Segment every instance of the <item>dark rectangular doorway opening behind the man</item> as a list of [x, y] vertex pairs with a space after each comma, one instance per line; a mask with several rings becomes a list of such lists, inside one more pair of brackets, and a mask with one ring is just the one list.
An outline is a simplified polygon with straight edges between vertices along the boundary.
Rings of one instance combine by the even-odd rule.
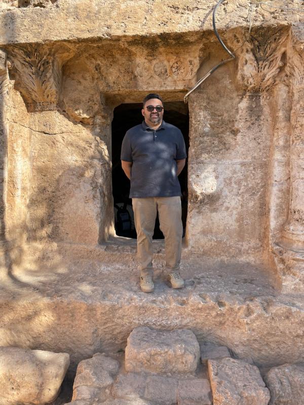
[[[114, 199], [115, 230], [118, 236], [136, 238], [132, 199], [129, 198], [130, 181], [121, 167], [121, 146], [128, 129], [142, 122], [141, 103], [121, 104], [115, 108], [112, 120], [112, 190]], [[182, 101], [164, 103], [164, 120], [175, 125], [183, 134], [186, 151], [189, 147], [189, 113]], [[178, 177], [181, 188], [182, 223], [185, 231], [187, 218], [187, 164]], [[154, 239], [163, 239], [157, 217]]]

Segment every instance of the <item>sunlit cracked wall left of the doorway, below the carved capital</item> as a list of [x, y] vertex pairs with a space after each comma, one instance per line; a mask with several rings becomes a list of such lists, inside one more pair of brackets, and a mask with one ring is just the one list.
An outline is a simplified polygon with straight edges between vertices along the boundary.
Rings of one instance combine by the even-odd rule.
[[15, 91], [11, 101], [8, 239], [98, 244], [110, 226], [105, 143], [57, 111], [28, 113]]

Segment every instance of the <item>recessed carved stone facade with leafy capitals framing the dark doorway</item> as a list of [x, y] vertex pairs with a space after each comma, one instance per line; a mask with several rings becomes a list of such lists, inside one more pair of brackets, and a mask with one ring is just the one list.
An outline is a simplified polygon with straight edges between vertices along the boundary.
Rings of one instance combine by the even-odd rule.
[[[289, 286], [300, 278], [304, 240], [300, 35], [288, 27], [256, 28], [249, 38], [228, 31], [236, 60], [188, 100], [188, 248], [264, 263]], [[6, 237], [86, 245], [115, 233], [113, 109], [152, 91], [182, 101], [227, 57], [210, 32], [5, 52]], [[292, 137], [300, 149], [290, 146]]]

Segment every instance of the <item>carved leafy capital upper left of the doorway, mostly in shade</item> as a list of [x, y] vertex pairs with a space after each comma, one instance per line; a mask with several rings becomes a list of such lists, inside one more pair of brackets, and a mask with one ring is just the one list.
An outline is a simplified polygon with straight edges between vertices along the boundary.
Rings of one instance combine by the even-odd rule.
[[61, 63], [54, 49], [25, 45], [10, 49], [15, 88], [28, 111], [55, 110], [61, 90]]

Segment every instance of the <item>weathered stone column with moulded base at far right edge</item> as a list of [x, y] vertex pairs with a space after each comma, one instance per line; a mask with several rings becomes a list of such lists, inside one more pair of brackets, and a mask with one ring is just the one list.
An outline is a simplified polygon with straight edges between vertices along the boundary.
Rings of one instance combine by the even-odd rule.
[[288, 47], [291, 96], [288, 220], [278, 241], [285, 269], [282, 290], [304, 292], [304, 32], [292, 29]]

